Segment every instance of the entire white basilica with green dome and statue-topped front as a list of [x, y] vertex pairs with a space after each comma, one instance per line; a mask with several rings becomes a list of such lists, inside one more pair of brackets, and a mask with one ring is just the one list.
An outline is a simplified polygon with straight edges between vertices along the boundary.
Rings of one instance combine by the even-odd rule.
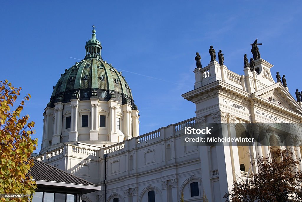
[[[267, 156], [272, 148], [291, 147], [293, 158], [301, 157], [300, 140], [290, 144], [289, 137], [302, 134], [302, 105], [286, 85], [275, 82], [273, 65], [260, 58], [259, 50], [255, 60], [245, 63], [243, 75], [223, 65], [221, 52], [219, 62], [214, 53], [205, 67], [195, 58], [195, 84], [182, 97], [196, 105], [196, 116], [147, 134], [139, 133], [135, 92], [101, 51], [93, 29], [84, 58], [65, 69], [54, 86], [43, 113], [40, 155], [34, 157], [101, 186], [80, 200], [178, 202], [183, 193], [188, 202], [201, 202], [203, 195], [223, 202], [234, 180], [257, 172], [249, 154]], [[267, 144], [185, 141], [187, 127], [223, 124], [223, 135], [235, 138], [249, 123], [265, 128]], [[288, 130], [281, 129], [284, 124]]]

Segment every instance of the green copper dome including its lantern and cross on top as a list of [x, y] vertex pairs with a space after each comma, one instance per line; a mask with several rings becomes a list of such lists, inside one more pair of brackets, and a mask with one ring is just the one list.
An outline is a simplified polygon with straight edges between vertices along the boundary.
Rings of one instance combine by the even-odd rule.
[[95, 32], [92, 30], [92, 38], [86, 42], [84, 60], [76, 62], [61, 74], [61, 78], [53, 88], [48, 107], [53, 107], [57, 102], [70, 102], [70, 99], [99, 98], [103, 101], [116, 100], [136, 108], [122, 72], [118, 72], [111, 64], [103, 61], [102, 46], [96, 39]]

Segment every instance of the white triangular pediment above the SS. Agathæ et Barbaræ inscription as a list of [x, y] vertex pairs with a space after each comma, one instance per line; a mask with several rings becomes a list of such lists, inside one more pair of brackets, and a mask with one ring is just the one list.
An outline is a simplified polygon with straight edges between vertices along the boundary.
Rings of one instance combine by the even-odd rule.
[[261, 98], [276, 106], [302, 114], [302, 108], [299, 103], [291, 96], [288, 90], [280, 83], [275, 83], [264, 89], [253, 93], [253, 97]]

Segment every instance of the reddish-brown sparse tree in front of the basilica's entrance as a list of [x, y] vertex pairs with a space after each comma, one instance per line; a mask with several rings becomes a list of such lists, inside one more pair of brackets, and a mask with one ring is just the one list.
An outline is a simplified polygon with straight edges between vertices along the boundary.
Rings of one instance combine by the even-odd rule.
[[225, 198], [231, 197], [232, 202], [302, 201], [302, 172], [298, 171], [301, 159], [293, 156], [293, 150], [276, 149], [271, 150], [271, 156], [253, 158], [253, 166], [258, 166], [259, 172], [236, 180]]

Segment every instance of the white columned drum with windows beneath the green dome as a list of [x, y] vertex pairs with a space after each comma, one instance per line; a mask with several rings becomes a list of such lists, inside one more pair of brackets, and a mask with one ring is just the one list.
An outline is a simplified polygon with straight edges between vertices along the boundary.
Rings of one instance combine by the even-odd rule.
[[[139, 111], [129, 104], [117, 101], [72, 99], [70, 103], [56, 103], [47, 107], [44, 115], [43, 141], [40, 153], [50, 151], [67, 142], [85, 142], [106, 147], [139, 135]], [[83, 115], [88, 116], [87, 125], [82, 125]], [[105, 116], [104, 127], [99, 117]], [[70, 127], [66, 128], [67, 117]], [[118, 123], [119, 122], [119, 123]]]

